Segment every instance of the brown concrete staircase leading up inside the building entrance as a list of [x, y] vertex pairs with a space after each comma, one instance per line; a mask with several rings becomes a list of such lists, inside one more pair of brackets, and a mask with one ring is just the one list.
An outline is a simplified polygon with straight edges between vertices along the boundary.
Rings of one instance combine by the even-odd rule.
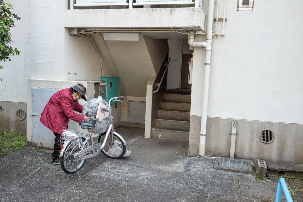
[[190, 102], [189, 94], [165, 93], [151, 137], [188, 141]]

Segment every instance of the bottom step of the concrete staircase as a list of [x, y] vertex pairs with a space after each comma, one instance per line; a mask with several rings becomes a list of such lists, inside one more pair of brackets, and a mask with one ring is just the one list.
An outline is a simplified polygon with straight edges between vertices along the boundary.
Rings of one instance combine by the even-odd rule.
[[152, 127], [151, 137], [169, 140], [189, 141], [189, 129]]

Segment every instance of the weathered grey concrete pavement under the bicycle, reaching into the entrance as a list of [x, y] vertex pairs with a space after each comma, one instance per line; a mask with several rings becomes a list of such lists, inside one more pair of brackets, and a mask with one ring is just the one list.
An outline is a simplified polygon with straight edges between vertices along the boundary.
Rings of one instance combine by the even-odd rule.
[[116, 160], [100, 152], [79, 171], [81, 180], [52, 164], [51, 150], [25, 147], [0, 158], [0, 201], [275, 201], [276, 183], [215, 170], [214, 158], [188, 158], [186, 141], [146, 139], [142, 128], [116, 131], [130, 156]]

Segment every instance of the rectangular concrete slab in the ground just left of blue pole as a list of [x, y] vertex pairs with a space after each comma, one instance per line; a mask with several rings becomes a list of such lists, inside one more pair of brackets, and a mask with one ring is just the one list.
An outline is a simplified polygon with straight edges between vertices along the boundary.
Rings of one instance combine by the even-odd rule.
[[[241, 194], [259, 197], [276, 198], [278, 183], [262, 182], [256, 180], [239, 180]], [[282, 199], [285, 199], [282, 194]]]

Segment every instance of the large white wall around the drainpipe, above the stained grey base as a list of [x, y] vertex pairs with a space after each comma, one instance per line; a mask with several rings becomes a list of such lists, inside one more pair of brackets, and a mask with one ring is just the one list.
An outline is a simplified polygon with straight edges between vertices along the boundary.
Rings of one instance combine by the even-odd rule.
[[[226, 3], [225, 36], [212, 38], [209, 117], [303, 123], [303, 39], [297, 35], [303, 31], [303, 2], [275, 3], [280, 6], [255, 2], [253, 11]], [[218, 32], [221, 27], [219, 22]], [[201, 116], [204, 58], [204, 50], [195, 48], [194, 116]]]

